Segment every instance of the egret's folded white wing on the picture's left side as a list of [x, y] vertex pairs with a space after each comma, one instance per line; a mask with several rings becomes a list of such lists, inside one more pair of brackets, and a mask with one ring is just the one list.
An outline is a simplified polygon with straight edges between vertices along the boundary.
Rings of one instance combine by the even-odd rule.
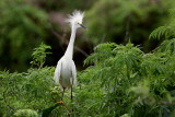
[[54, 80], [58, 83], [59, 79], [60, 79], [60, 72], [61, 72], [61, 66], [62, 66], [62, 61], [61, 59], [58, 61], [56, 70], [55, 70], [55, 74], [54, 74]]

